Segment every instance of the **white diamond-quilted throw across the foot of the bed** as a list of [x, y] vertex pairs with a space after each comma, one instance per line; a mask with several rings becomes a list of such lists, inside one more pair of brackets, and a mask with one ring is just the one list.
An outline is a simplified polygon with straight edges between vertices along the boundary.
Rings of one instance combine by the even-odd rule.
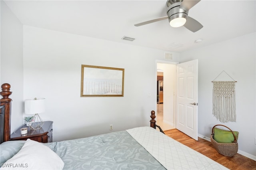
[[228, 169], [153, 128], [139, 127], [126, 131], [168, 170]]

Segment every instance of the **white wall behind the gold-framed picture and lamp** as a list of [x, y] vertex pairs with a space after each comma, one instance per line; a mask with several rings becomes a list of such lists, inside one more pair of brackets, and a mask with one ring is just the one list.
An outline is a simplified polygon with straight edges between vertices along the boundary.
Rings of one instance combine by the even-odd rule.
[[[40, 116], [54, 121], [54, 141], [149, 126], [163, 58], [162, 50], [24, 26], [24, 99], [46, 98]], [[124, 97], [80, 97], [82, 64], [124, 68]]]

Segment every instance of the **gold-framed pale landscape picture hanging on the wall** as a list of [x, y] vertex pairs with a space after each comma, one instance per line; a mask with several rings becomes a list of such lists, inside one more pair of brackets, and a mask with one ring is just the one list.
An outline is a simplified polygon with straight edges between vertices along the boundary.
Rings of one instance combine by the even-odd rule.
[[81, 97], [123, 97], [124, 69], [82, 65]]

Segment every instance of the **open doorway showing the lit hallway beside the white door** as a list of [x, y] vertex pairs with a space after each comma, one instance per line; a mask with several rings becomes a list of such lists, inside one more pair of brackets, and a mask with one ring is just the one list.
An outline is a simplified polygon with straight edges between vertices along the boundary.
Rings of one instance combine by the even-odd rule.
[[[176, 91], [176, 64], [170, 61], [156, 61], [157, 75], [163, 76], [162, 82], [157, 82], [157, 95], [163, 93], [163, 99], [157, 100], [156, 121], [163, 130], [176, 128], [175, 125], [175, 91]], [[162, 83], [159, 85], [159, 83]], [[160, 91], [161, 86], [161, 91]]]

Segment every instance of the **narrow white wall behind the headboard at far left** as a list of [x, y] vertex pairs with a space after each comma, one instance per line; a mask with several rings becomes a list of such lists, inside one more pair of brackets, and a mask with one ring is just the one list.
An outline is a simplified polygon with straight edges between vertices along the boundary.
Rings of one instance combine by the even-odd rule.
[[22, 125], [23, 109], [23, 26], [6, 6], [1, 3], [1, 65], [0, 82], [9, 83], [13, 100], [11, 132]]

